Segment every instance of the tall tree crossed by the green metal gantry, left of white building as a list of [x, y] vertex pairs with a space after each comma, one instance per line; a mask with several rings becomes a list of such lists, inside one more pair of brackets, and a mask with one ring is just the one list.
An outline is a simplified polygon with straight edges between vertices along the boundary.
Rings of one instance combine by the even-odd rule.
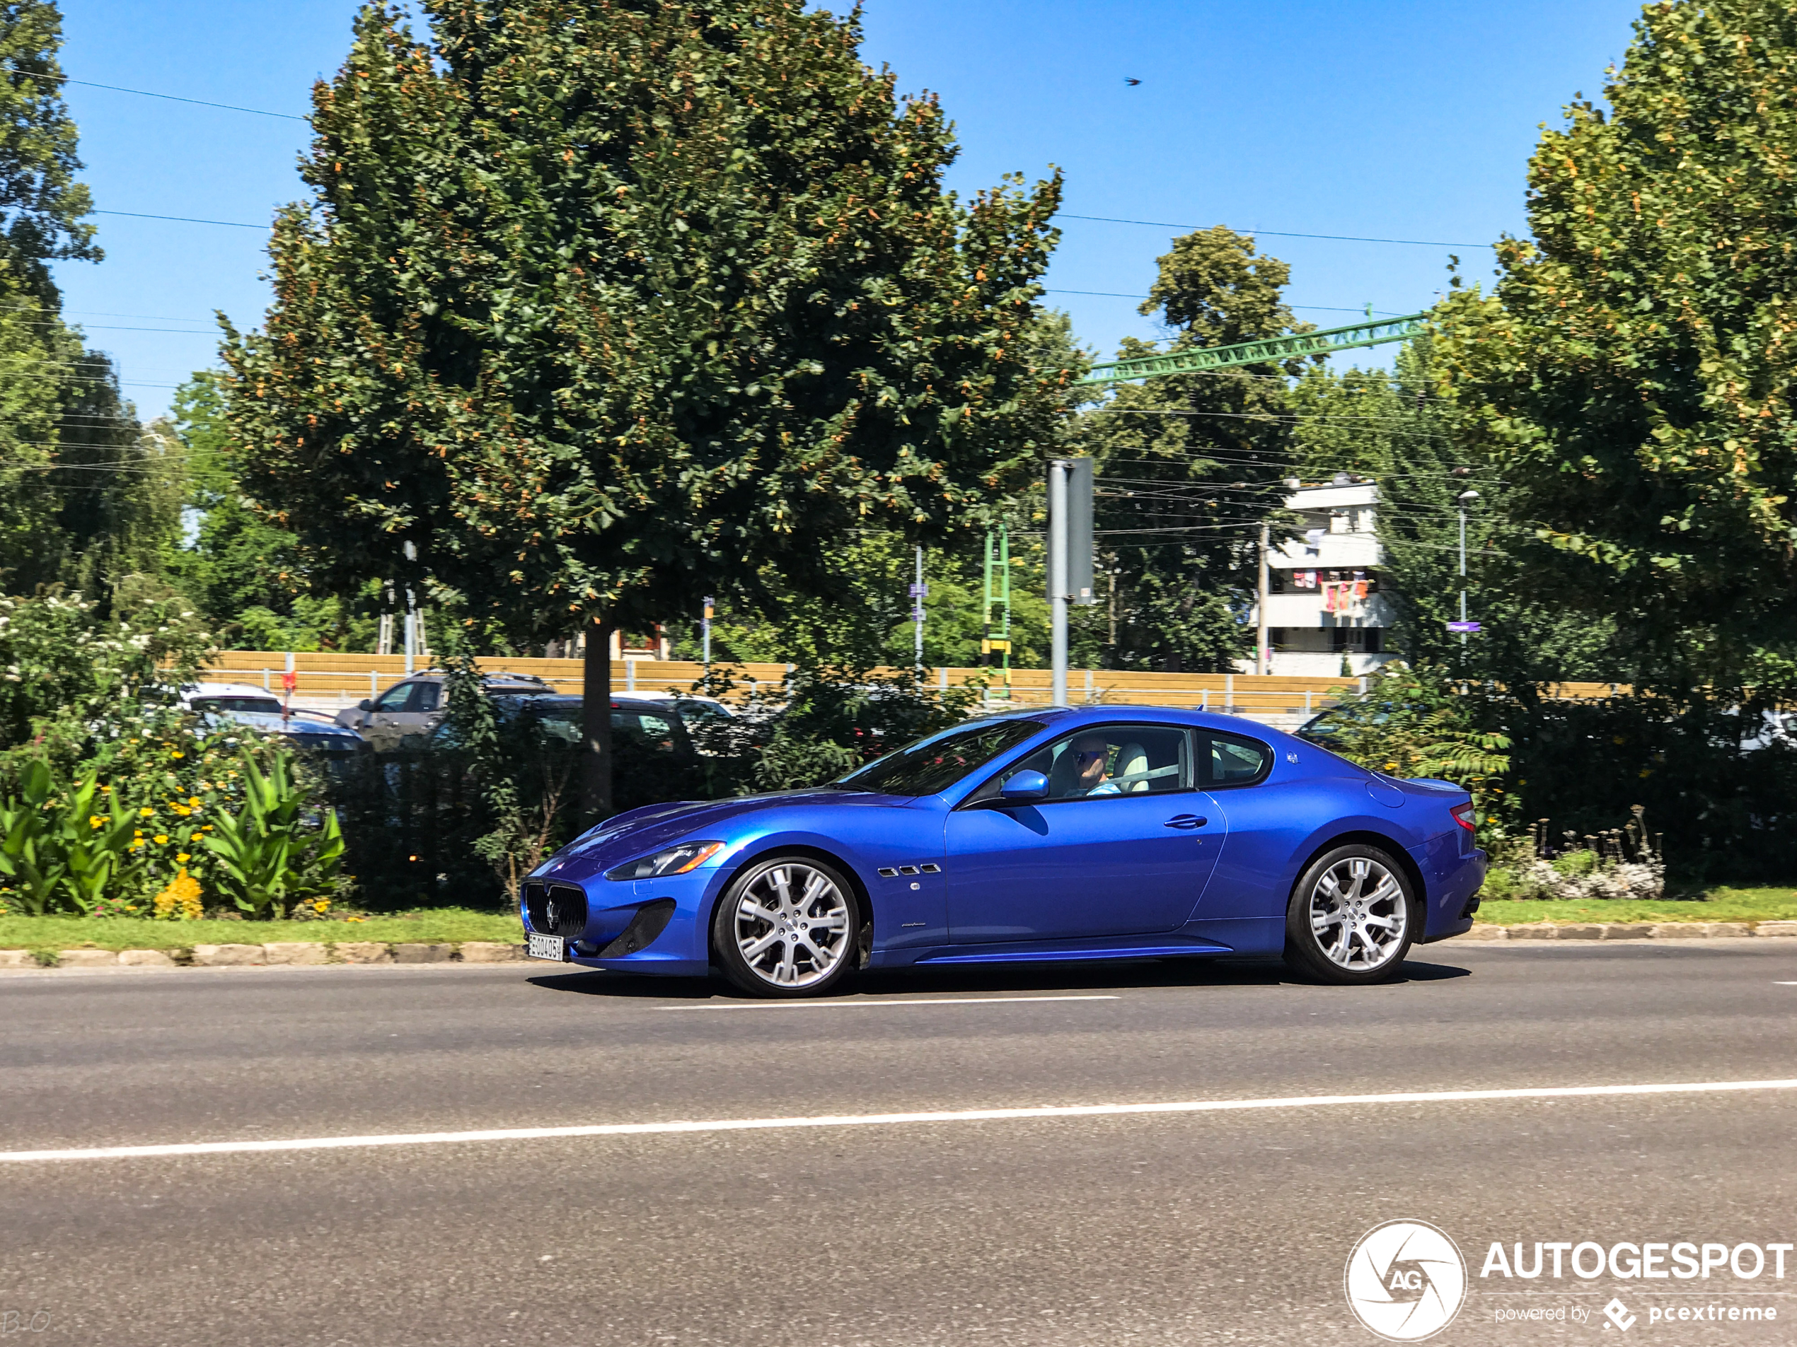
[[[1141, 305], [1177, 330], [1168, 350], [1305, 330], [1281, 291], [1290, 268], [1224, 226], [1188, 233], [1159, 262]], [[1120, 359], [1154, 348], [1127, 338]], [[1253, 650], [1244, 612], [1256, 537], [1290, 472], [1287, 381], [1299, 361], [1181, 374], [1120, 386], [1085, 413], [1080, 444], [1098, 472], [1098, 607], [1118, 668], [1229, 670]], [[1114, 632], [1114, 634], [1112, 634]]]

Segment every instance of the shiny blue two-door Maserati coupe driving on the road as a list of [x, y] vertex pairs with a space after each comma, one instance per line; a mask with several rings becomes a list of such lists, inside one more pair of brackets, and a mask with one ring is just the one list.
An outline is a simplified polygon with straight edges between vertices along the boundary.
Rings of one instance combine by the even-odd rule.
[[1393, 977], [1472, 925], [1486, 855], [1447, 781], [1154, 706], [988, 715], [821, 787], [651, 805], [523, 884], [528, 954], [721, 968], [764, 997], [855, 968], [1283, 955]]

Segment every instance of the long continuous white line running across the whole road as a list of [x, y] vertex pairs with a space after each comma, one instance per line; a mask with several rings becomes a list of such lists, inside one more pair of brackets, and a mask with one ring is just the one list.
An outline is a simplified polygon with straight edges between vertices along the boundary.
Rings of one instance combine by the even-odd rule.
[[906, 1122], [1012, 1122], [1039, 1117], [1129, 1117], [1136, 1114], [1236, 1114], [1267, 1108], [1339, 1108], [1353, 1105], [1454, 1105], [1490, 1099], [1603, 1099], [1655, 1094], [1797, 1090], [1788, 1081], [1693, 1081], [1680, 1085], [1542, 1085], [1520, 1090], [1418, 1090], [1407, 1094], [1310, 1094], [1283, 1099], [1184, 1099], [1150, 1105], [1044, 1105], [1037, 1108], [960, 1108], [927, 1114], [825, 1114], [819, 1117], [724, 1117], [701, 1122], [598, 1122], [573, 1128], [489, 1128], [485, 1131], [395, 1131], [370, 1137], [295, 1137], [289, 1140], [194, 1140], [165, 1146], [86, 1146], [66, 1151], [0, 1151], [0, 1162], [135, 1160], [158, 1155], [239, 1155], [259, 1151], [340, 1151], [352, 1146], [440, 1146], [474, 1140], [550, 1140], [559, 1137], [652, 1137], [694, 1131], [782, 1131], [792, 1128], [866, 1128]]

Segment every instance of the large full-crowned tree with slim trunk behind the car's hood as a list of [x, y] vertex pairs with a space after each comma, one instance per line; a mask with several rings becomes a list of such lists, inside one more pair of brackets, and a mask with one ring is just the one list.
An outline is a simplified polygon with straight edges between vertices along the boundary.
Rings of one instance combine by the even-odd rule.
[[615, 625], [769, 573], [841, 593], [827, 542], [949, 535], [1033, 462], [1058, 181], [943, 192], [942, 110], [800, 0], [426, 13], [435, 47], [365, 9], [316, 92], [232, 440], [320, 584], [588, 627], [600, 814]]

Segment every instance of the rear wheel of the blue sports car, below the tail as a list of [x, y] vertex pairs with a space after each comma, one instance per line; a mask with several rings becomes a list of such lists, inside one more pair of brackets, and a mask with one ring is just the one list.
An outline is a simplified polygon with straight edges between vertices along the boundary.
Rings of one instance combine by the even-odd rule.
[[1297, 876], [1285, 961], [1321, 982], [1385, 982], [1411, 950], [1416, 911], [1409, 876], [1385, 851], [1337, 846]]

